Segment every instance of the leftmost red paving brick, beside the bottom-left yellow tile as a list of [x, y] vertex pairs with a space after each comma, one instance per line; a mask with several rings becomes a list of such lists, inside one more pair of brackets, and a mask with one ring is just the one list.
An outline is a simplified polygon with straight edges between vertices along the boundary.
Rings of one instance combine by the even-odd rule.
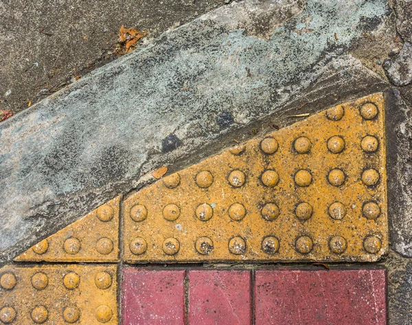
[[185, 271], [123, 271], [124, 325], [185, 324]]

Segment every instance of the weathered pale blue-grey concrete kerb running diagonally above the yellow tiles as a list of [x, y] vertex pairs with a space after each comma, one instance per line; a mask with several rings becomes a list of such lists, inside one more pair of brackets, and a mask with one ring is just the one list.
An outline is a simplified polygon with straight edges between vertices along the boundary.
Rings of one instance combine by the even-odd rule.
[[[268, 31], [251, 21], [259, 10], [273, 15]], [[161, 164], [177, 161], [176, 170], [255, 126], [267, 131], [269, 119], [283, 126], [295, 122], [289, 112], [382, 89], [345, 48], [390, 13], [384, 0], [232, 3], [3, 122], [1, 259], [141, 186]]]

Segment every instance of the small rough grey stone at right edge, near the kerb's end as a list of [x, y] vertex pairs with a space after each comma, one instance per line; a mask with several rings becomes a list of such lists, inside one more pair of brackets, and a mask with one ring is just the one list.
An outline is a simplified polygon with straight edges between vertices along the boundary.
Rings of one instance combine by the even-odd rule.
[[412, 44], [405, 42], [400, 52], [385, 60], [383, 67], [393, 85], [409, 85], [412, 82]]

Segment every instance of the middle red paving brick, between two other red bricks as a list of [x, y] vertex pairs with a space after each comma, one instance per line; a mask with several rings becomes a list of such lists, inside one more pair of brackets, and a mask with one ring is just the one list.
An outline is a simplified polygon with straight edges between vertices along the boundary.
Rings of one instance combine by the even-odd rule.
[[190, 271], [190, 325], [250, 325], [249, 271]]

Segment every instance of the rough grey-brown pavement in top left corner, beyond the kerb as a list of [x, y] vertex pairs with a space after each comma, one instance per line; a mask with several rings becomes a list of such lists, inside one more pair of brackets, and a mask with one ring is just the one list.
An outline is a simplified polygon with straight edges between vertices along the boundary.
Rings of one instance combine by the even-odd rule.
[[148, 39], [221, 5], [215, 0], [0, 3], [0, 110], [27, 108], [113, 58], [122, 25]]

